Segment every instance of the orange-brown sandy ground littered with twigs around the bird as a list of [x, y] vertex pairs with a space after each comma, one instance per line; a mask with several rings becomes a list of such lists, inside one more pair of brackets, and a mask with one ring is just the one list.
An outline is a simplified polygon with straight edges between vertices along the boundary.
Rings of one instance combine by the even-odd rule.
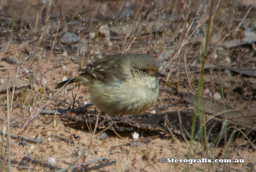
[[[79, 2], [76, 1], [74, 5], [80, 9], [78, 3]], [[154, 4], [152, 7], [160, 8], [165, 6], [164, 3], [156, 4], [156, 6], [154, 6]], [[65, 5], [72, 5], [72, 3]], [[103, 6], [104, 5], [105, 4], [103, 3]], [[133, 4], [132, 2], [128, 4], [129, 7], [132, 7], [132, 5], [135, 5], [136, 9], [140, 6], [140, 4]], [[112, 6], [114, 8], [113, 4]], [[7, 7], [8, 6], [5, 6], [5, 11], [8, 11]], [[149, 8], [149, 6], [146, 6], [145, 4], [142, 4], [142, 7], [143, 10], [147, 9], [146, 7]], [[179, 7], [182, 8], [182, 6]], [[57, 7], [55, 8], [57, 9]], [[240, 14], [244, 8], [246, 7], [236, 7], [236, 12]], [[67, 11], [64, 10], [64, 13], [67, 12], [67, 14], [65, 13], [67, 16], [69, 14], [68, 9], [69, 8], [67, 8]], [[73, 9], [75, 9], [75, 7]], [[103, 10], [104, 8], [101, 9]], [[143, 11], [142, 9], [141, 11]], [[155, 8], [152, 8], [150, 10], [154, 11], [154, 9]], [[197, 9], [198, 7], [193, 6], [192, 11], [196, 11]], [[229, 7], [225, 8], [225, 10], [228, 9]], [[252, 10], [255, 11], [255, 8], [253, 7]], [[114, 10], [112, 9], [112, 11]], [[116, 11], [118, 12], [118, 10]], [[141, 11], [138, 16], [142, 16]], [[155, 11], [160, 13], [161, 10], [158, 9]], [[30, 12], [32, 13], [33, 11]], [[88, 13], [90, 12], [91, 11], [88, 11]], [[34, 13], [36, 13], [36, 11]], [[177, 14], [175, 11], [173, 11], [173, 13]], [[117, 134], [107, 130], [105, 132], [106, 137], [101, 138], [98, 135], [98, 133], [101, 131], [99, 129], [97, 129], [96, 135], [93, 135], [91, 132], [89, 132], [88, 126], [84, 126], [79, 129], [71, 127], [68, 125], [67, 121], [63, 122], [63, 119], [59, 115], [39, 115], [38, 111], [43, 106], [46, 109], [67, 109], [72, 108], [72, 104], [74, 104], [76, 107], [81, 107], [87, 103], [90, 103], [90, 96], [87, 93], [86, 87], [72, 84], [67, 88], [64, 88], [64, 90], [59, 92], [56, 96], [55, 94], [57, 93], [57, 90], [54, 89], [54, 87], [56, 83], [61, 82], [65, 78], [70, 79], [74, 76], [77, 76], [79, 74], [78, 69], [81, 66], [89, 64], [96, 58], [104, 58], [111, 54], [124, 53], [125, 50], [127, 50], [128, 53], [146, 53], [154, 55], [158, 61], [159, 69], [163, 69], [166, 66], [167, 60], [172, 57], [173, 54], [179, 49], [177, 46], [179, 45], [178, 36], [182, 37], [180, 29], [183, 29], [182, 24], [184, 24], [183, 20], [177, 20], [175, 21], [177, 22], [175, 31], [173, 31], [173, 29], [168, 29], [157, 34], [152, 34], [150, 32], [142, 35], [138, 34], [139, 36], [137, 35], [138, 38], [136, 38], [134, 42], [133, 39], [129, 38], [127, 38], [127, 41], [124, 41], [124, 37], [116, 40], [116, 37], [113, 39], [112, 36], [110, 39], [109, 35], [99, 34], [99, 37], [94, 40], [95, 42], [93, 42], [93, 46], [91, 46], [91, 54], [87, 56], [89, 52], [87, 51], [87, 55], [83, 56], [83, 53], [81, 53], [82, 51], [80, 51], [77, 56], [74, 52], [67, 53], [61, 48], [51, 49], [48, 47], [48, 45], [53, 42], [54, 33], [56, 33], [57, 30], [57, 22], [54, 18], [57, 16], [57, 14], [58, 13], [56, 11], [53, 11], [53, 18], [50, 20], [51, 23], [49, 24], [52, 26], [52, 30], [47, 30], [48, 32], [46, 35], [44, 35], [42, 42], [40, 42], [39, 39], [34, 39], [33, 34], [29, 32], [28, 34], [31, 34], [29, 35], [31, 39], [27, 39], [26, 41], [23, 41], [22, 39], [22, 41], [20, 41], [20, 39], [14, 38], [12, 38], [13, 41], [10, 41], [8, 35], [2, 34], [3, 39], [1, 40], [0, 46], [2, 50], [0, 52], [1, 84], [6, 83], [11, 79], [15, 79], [15, 77], [32, 84], [31, 87], [15, 88], [13, 96], [12, 90], [10, 90], [9, 94], [10, 104], [12, 104], [10, 120], [11, 134], [18, 136], [18, 138], [11, 138], [10, 142], [11, 159], [15, 161], [15, 164], [12, 165], [20, 166], [18, 165], [18, 162], [25, 162], [26, 160], [22, 160], [22, 158], [25, 156], [31, 157], [33, 160], [40, 161], [40, 163], [32, 163], [26, 161], [27, 164], [25, 167], [13, 167], [13, 172], [50, 171], [49, 168], [42, 167], [41, 163], [46, 163], [51, 167], [57, 166], [61, 169], [69, 167], [67, 171], [72, 171], [72, 169], [77, 169], [79, 171], [81, 168], [98, 167], [98, 165], [111, 163], [113, 161], [115, 161], [115, 163], [112, 165], [107, 165], [106, 167], [94, 169], [92, 171], [255, 172], [255, 144], [251, 145], [250, 141], [248, 141], [248, 139], [251, 138], [245, 139], [244, 137], [238, 137], [233, 140], [233, 143], [229, 147], [225, 147], [223, 144], [219, 144], [215, 147], [213, 146], [214, 144], [212, 142], [209, 142], [209, 153], [207, 154], [203, 143], [191, 143], [189, 142], [188, 138], [179, 137], [170, 133], [163, 132], [162, 134], [164, 135], [161, 138], [152, 137], [150, 133], [139, 133], [139, 139], [148, 138], [146, 141], [140, 143], [132, 139], [132, 132], [121, 133], [122, 137], [127, 138], [122, 139], [118, 137]], [[91, 12], [91, 14], [93, 14], [93, 12]], [[99, 15], [99, 17], [103, 18], [103, 14], [105, 13], [96, 12], [95, 15]], [[245, 16], [245, 14], [240, 15]], [[74, 14], [74, 16], [76, 15]], [[196, 16], [199, 16], [199, 14], [196, 14]], [[107, 18], [108, 16], [104, 17]], [[234, 15], [232, 15], [232, 17], [234, 17]], [[78, 22], [78, 19], [79, 17], [76, 16], [71, 21]], [[253, 18], [252, 15], [248, 15], [246, 19], [247, 20], [245, 21], [245, 24], [242, 25], [243, 27], [240, 30], [241, 33], [249, 26], [255, 26], [255, 18]], [[145, 23], [150, 22], [148, 20], [145, 21]], [[152, 18], [151, 21], [157, 21], [157, 18]], [[23, 22], [26, 23], [27, 21], [24, 20]], [[168, 22], [169, 21], [166, 20], [166, 23]], [[227, 27], [229, 27], [225, 29], [222, 28], [223, 35], [227, 34], [229, 29], [232, 27], [237, 26], [237, 23], [229, 23], [229, 20], [226, 18], [222, 22], [226, 24]], [[117, 23], [118, 22], [113, 23], [113, 26], [115, 26], [115, 24], [117, 25]], [[20, 26], [20, 24], [22, 24], [22, 22], [19, 21], [18, 26]], [[61, 22], [60, 24], [60, 27], [63, 28], [63, 30], [66, 29], [65, 31], [69, 31], [70, 33], [74, 32], [76, 35], [79, 35], [79, 37], [83, 38], [79, 41], [80, 48], [82, 45], [86, 44], [85, 40], [88, 37], [84, 36], [86, 34], [83, 32], [78, 32], [83, 23], [79, 23], [78, 25], [75, 25], [77, 23], [72, 23], [71, 25], [65, 24], [67, 23]], [[26, 24], [24, 25], [26, 26]], [[84, 27], [91, 29], [91, 33], [93, 33], [93, 31], [97, 31], [98, 24], [94, 23], [90, 27], [89, 25], [90, 24], [86, 24]], [[6, 28], [10, 27], [11, 25], [8, 25]], [[108, 30], [109, 27], [110, 25], [106, 28], [106, 30]], [[207, 27], [207, 24], [203, 27]], [[43, 33], [43, 28], [44, 27], [41, 28], [41, 33]], [[221, 30], [221, 27], [218, 26], [218, 28]], [[20, 29], [14, 33], [16, 36], [15, 38], [18, 38], [19, 31]], [[63, 35], [63, 33], [61, 34]], [[57, 39], [59, 42], [57, 45], [66, 45], [66, 43], [60, 43], [61, 34], [58, 35]], [[22, 35], [25, 35], [25, 33], [22, 33]], [[173, 35], [178, 36], [173, 37]], [[35, 38], [38, 37], [35, 35]], [[225, 41], [228, 42], [235, 39], [236, 35], [231, 35], [228, 40], [225, 39]], [[158, 110], [159, 108], [163, 107], [164, 108], [161, 111], [157, 111], [157, 113], [167, 111], [193, 111], [193, 109], [195, 109], [195, 107], [193, 107], [191, 104], [185, 102], [184, 97], [182, 97], [181, 94], [174, 93], [173, 90], [177, 89], [180, 93], [196, 93], [198, 91], [199, 68], [192, 68], [190, 66], [187, 69], [187, 74], [184, 67], [184, 54], [186, 54], [187, 65], [193, 63], [199, 64], [199, 57], [196, 55], [198, 53], [197, 50], [200, 47], [200, 45], [196, 45], [198, 40], [200, 40], [198, 35], [193, 35], [193, 37], [187, 42], [186, 46], [182, 49], [182, 53], [180, 53], [181, 55], [175, 57], [171, 62], [171, 65], [167, 67], [165, 74], [169, 76], [168, 80], [163, 79], [160, 81], [161, 91], [158, 103], [153, 108], [151, 108], [149, 112], [154, 112], [154, 110]], [[6, 48], [7, 45], [8, 48]], [[129, 47], [130, 45], [132, 46]], [[218, 54], [216, 53], [217, 46], [215, 45], [216, 43], [212, 43], [212, 49], [208, 52], [209, 57], [206, 61], [207, 65], [218, 64], [218, 58], [211, 58], [212, 56], [218, 57]], [[228, 57], [230, 60], [227, 63], [228, 67], [237, 68], [238, 65], [241, 65], [242, 67], [248, 69], [255, 68], [255, 51], [250, 51], [248, 54], [246, 54], [244, 61], [242, 61], [241, 64], [238, 64], [237, 58], [235, 58], [238, 57], [236, 54], [238, 49], [240, 48], [236, 46], [234, 49], [220, 50], [222, 53], [224, 52], [224, 55], [222, 54], [221, 56], [222, 63], [224, 63]], [[245, 54], [245, 51], [247, 52], [247, 50], [247, 47], [244, 47], [242, 52]], [[164, 55], [166, 52], [167, 55]], [[161, 60], [162, 56], [164, 56], [166, 59]], [[17, 69], [19, 70], [17, 71]], [[229, 70], [222, 70], [220, 76], [218, 69], [205, 69], [204, 84], [202, 88], [203, 91], [209, 89], [209, 92], [205, 93], [204, 97], [214, 99], [214, 94], [221, 95], [221, 82], [223, 85], [222, 88], [224, 100], [227, 105], [242, 111], [243, 114], [247, 116], [255, 115], [255, 77], [249, 77], [234, 72], [231, 73]], [[176, 84], [178, 84], [178, 88], [174, 88], [174, 85]], [[76, 95], [75, 103], [73, 95]], [[50, 100], [53, 96], [54, 98]], [[13, 100], [11, 101], [12, 98]], [[1, 104], [3, 104], [3, 108], [0, 108], [0, 131], [7, 132], [8, 111], [6, 90], [0, 92], [0, 100]], [[50, 101], [48, 102], [48, 100]], [[223, 103], [222, 99], [217, 99], [216, 101]], [[90, 106], [89, 109], [96, 115], [94, 106]], [[35, 117], [35, 119], [33, 119], [33, 117]], [[254, 120], [251, 120], [250, 126], [255, 126], [254, 124], [255, 118]], [[36, 139], [42, 142], [25, 142], [22, 138], [19, 137]], [[3, 138], [1, 135], [0, 139], [0, 153], [2, 157], [0, 171], [6, 171], [8, 169], [8, 138]], [[161, 158], [165, 158], [166, 162], [161, 163]], [[231, 160], [234, 160], [237, 158], [244, 159], [244, 163], [167, 163], [167, 158], [212, 158], [212, 160], [218, 158], [230, 158]], [[93, 160], [95, 161], [91, 162]], [[83, 163], [85, 164], [82, 167]]]

